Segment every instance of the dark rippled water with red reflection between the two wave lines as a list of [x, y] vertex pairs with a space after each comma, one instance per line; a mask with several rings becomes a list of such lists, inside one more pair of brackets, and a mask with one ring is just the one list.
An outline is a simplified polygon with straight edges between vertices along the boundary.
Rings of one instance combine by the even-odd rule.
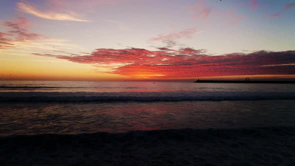
[[0, 135], [294, 125], [294, 100], [1, 103]]

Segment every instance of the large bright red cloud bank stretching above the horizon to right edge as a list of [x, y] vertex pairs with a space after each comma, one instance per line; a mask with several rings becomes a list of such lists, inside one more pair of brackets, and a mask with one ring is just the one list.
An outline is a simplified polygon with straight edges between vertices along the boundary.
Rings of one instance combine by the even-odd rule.
[[[295, 74], [295, 51], [257, 51], [210, 56], [203, 49], [151, 51], [139, 48], [99, 48], [90, 55], [38, 54], [77, 63], [117, 65], [109, 73], [144, 78], [197, 76]], [[283, 65], [282, 65], [283, 64]]]

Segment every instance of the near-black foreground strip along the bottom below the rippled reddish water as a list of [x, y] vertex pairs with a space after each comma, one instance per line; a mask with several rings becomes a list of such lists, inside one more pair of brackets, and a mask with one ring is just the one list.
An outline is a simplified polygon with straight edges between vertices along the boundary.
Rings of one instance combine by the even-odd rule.
[[295, 128], [0, 137], [1, 165], [295, 165]]

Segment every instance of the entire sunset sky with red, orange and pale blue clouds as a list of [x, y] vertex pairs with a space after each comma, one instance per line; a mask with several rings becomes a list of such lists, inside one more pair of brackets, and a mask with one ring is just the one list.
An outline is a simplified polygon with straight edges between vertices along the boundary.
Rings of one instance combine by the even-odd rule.
[[0, 80], [295, 78], [295, 0], [0, 0]]

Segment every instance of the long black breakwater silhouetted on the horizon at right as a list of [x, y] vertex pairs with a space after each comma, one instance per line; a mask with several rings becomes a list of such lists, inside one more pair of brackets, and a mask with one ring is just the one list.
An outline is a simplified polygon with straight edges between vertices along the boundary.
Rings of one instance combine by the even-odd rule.
[[294, 80], [196, 80], [196, 83], [295, 83]]

